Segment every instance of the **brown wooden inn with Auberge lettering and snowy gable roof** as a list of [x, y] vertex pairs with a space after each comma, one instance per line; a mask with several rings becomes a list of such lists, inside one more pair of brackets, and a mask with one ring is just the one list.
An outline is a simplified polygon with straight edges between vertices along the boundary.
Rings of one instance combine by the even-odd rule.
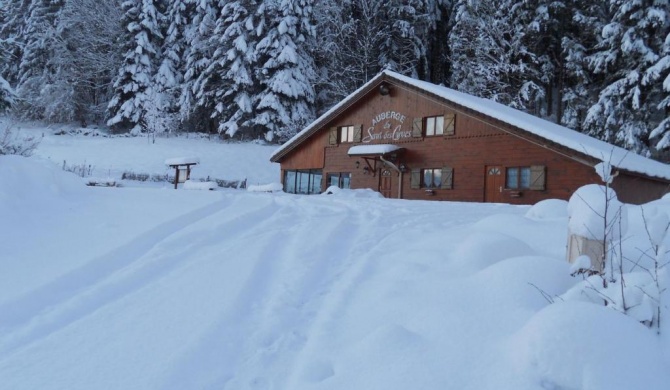
[[335, 185], [388, 198], [533, 204], [602, 184], [609, 161], [619, 199], [670, 190], [670, 167], [523, 112], [382, 72], [282, 145], [289, 193]]

